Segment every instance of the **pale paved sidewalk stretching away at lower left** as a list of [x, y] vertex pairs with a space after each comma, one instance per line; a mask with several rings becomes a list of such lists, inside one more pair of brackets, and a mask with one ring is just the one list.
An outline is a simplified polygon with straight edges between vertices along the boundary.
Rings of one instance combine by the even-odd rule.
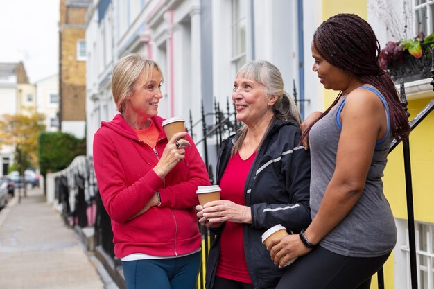
[[0, 264], [0, 288], [5, 289], [116, 287], [105, 285], [102, 265], [46, 204], [41, 189], [28, 190], [21, 204], [16, 190], [0, 211]]

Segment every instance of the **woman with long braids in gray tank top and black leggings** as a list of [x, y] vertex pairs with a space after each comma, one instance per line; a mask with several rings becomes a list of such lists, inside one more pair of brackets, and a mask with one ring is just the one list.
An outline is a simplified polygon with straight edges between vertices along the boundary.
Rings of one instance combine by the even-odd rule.
[[392, 139], [410, 133], [408, 119], [379, 67], [379, 42], [361, 17], [324, 21], [311, 49], [322, 85], [340, 92], [324, 113], [305, 122], [312, 222], [268, 247], [280, 266], [300, 257], [277, 289], [370, 288], [397, 240], [381, 177]]

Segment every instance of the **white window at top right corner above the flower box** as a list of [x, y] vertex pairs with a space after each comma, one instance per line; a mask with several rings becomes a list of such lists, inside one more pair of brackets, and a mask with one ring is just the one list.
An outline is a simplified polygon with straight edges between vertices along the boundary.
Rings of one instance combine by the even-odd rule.
[[425, 36], [434, 33], [434, 0], [413, 0], [415, 5], [415, 32]]

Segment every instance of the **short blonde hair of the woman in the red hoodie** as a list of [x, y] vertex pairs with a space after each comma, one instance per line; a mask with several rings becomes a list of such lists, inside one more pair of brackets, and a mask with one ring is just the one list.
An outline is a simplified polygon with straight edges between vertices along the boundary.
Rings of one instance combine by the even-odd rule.
[[138, 54], [131, 54], [121, 58], [113, 68], [112, 73], [112, 94], [116, 109], [123, 114], [125, 98], [134, 89], [139, 76], [144, 76], [144, 82], [152, 78], [153, 69], [156, 69], [162, 76], [162, 70], [157, 62], [148, 60]]

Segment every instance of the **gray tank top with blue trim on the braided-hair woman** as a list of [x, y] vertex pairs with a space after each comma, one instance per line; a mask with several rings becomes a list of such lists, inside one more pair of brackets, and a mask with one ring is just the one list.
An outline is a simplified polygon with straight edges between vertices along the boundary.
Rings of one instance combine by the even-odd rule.
[[[369, 89], [381, 98], [388, 114], [388, 106], [381, 94]], [[336, 152], [340, 137], [339, 114], [345, 98], [339, 100], [336, 109], [315, 123], [309, 132], [311, 148], [311, 215], [318, 213], [324, 192], [336, 166]], [[389, 130], [385, 139], [376, 143], [365, 189], [354, 208], [327, 236], [320, 245], [331, 252], [353, 257], [376, 257], [392, 251], [397, 242], [397, 229], [388, 200], [383, 194], [383, 171], [387, 163], [390, 143]], [[363, 133], [363, 132], [361, 132]]]

